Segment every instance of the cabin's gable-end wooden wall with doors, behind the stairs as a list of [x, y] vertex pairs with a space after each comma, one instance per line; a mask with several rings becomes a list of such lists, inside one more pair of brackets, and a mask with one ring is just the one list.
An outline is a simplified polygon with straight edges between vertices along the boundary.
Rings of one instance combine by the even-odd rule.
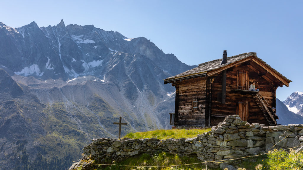
[[[260, 94], [265, 97], [270, 107], [275, 107], [275, 79], [273, 77], [270, 77], [271, 75], [268, 74], [266, 74], [265, 76], [259, 76], [258, 74], [265, 72], [265, 70], [263, 70], [262, 68], [257, 68], [258, 70], [256, 70], [256, 67], [258, 66], [254, 65], [253, 62], [250, 62], [239, 65], [238, 67], [234, 67], [233, 69], [227, 71], [225, 104], [221, 104], [221, 102], [217, 101], [218, 95], [220, 95], [222, 88], [221, 72], [217, 75], [211, 88], [211, 126], [215, 126], [219, 122], [222, 122], [225, 116], [236, 114], [238, 102], [249, 103], [249, 123], [260, 123], [268, 125], [265, 116], [263, 115], [257, 103], [251, 96], [251, 93], [238, 93], [233, 91], [234, 89], [237, 89], [238, 71], [247, 70], [249, 72], [249, 85], [252, 83], [252, 81], [256, 81], [255, 86], [260, 90]], [[258, 73], [256, 71], [258, 71]]]

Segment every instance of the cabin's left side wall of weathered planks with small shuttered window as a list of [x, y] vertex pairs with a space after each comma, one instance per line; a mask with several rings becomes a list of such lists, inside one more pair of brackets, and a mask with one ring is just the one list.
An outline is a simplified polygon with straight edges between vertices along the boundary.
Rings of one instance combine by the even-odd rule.
[[[206, 77], [191, 78], [172, 84], [176, 87], [175, 126], [205, 126]], [[193, 99], [198, 109], [192, 109]]]

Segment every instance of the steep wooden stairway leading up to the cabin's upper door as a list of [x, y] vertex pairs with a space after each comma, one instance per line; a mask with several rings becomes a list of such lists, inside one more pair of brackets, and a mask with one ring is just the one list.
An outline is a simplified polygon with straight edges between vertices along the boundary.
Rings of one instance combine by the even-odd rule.
[[[255, 99], [257, 105], [259, 106], [259, 108], [263, 112], [263, 114], [264, 114], [266, 120], [268, 121], [269, 125], [271, 125], [271, 126], [277, 125], [277, 122], [276, 122], [274, 116], [271, 115], [271, 112], [268, 110], [268, 107], [265, 105], [264, 101], [262, 100], [262, 98], [264, 99], [264, 97], [261, 95], [262, 96], [262, 98], [261, 98], [260, 95], [261, 95], [260, 93], [252, 94], [252, 97]], [[266, 100], [265, 100], [265, 102], [267, 103]]]

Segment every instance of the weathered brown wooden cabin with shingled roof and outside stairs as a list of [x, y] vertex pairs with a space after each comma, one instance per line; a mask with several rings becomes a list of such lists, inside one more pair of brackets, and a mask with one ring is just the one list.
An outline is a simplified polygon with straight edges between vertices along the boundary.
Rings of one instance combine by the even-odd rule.
[[[259, 92], [249, 90], [253, 81]], [[237, 114], [249, 123], [277, 125], [271, 110], [276, 107], [276, 90], [290, 82], [254, 52], [227, 57], [224, 51], [222, 59], [164, 80], [176, 88], [170, 124], [215, 126], [225, 116]]]

